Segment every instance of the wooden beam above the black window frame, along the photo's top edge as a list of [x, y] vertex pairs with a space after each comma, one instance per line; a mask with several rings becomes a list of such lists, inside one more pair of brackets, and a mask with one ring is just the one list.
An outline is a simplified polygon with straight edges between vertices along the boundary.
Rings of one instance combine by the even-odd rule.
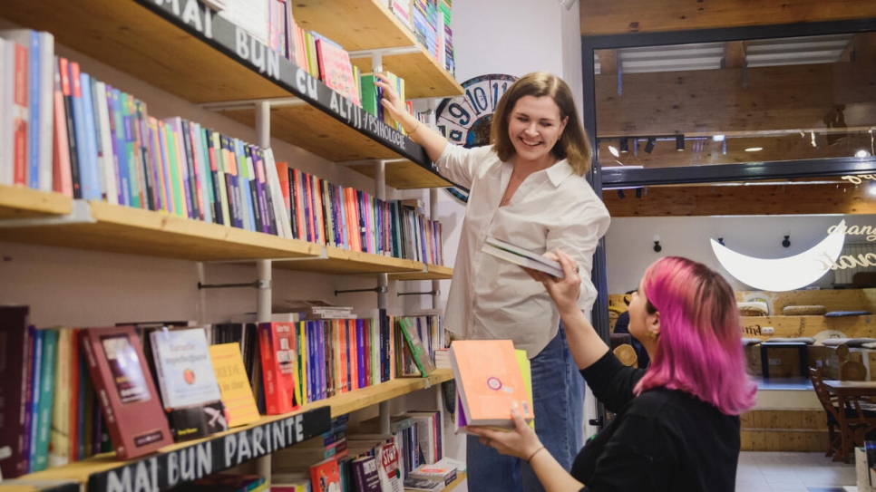
[[876, 17], [861, 0], [581, 0], [581, 35], [657, 33]]

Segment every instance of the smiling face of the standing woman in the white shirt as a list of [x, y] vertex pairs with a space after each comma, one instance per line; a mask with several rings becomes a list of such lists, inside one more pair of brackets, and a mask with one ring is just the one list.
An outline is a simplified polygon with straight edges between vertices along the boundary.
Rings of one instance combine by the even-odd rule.
[[566, 128], [560, 107], [550, 97], [523, 96], [514, 104], [508, 119], [508, 136], [517, 155], [515, 164], [549, 167], [556, 157], [550, 153]]

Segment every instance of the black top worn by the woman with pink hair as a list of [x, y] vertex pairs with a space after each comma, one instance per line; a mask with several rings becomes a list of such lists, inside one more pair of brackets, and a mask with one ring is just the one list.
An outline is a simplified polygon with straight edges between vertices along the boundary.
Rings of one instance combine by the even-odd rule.
[[645, 370], [626, 367], [612, 352], [581, 371], [596, 398], [616, 413], [575, 458], [571, 474], [582, 492], [734, 492], [739, 417], [685, 391], [642, 392]]

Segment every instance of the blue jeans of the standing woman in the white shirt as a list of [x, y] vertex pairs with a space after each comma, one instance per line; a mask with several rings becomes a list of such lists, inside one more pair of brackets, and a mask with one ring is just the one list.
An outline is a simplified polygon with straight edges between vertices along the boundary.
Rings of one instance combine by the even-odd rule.
[[[569, 353], [561, 322], [560, 333], [530, 360], [530, 365], [535, 432], [550, 454], [569, 470], [583, 447], [584, 378]], [[528, 463], [500, 455], [475, 436], [467, 437], [466, 462], [471, 492], [544, 491]]]

